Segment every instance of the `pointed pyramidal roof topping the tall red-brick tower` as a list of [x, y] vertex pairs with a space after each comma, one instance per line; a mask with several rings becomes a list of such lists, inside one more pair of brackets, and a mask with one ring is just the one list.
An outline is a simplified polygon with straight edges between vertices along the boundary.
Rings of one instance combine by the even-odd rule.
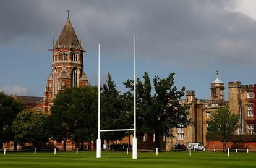
[[69, 15], [55, 46], [80, 46], [77, 35], [75, 35], [75, 30], [69, 20]]

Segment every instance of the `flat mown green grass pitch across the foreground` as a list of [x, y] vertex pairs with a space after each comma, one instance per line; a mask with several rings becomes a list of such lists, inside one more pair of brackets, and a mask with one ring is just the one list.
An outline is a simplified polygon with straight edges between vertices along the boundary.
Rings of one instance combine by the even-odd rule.
[[193, 152], [192, 156], [184, 152], [163, 152], [156, 156], [153, 152], [138, 153], [138, 159], [132, 159], [132, 153], [103, 151], [102, 158], [96, 159], [92, 151], [72, 152], [31, 152], [6, 153], [0, 155], [0, 167], [256, 167], [256, 153]]

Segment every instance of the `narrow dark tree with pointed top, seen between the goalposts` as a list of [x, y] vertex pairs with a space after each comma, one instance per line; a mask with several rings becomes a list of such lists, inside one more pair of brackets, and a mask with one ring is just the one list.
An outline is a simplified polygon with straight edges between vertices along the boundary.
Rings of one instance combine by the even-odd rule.
[[[103, 85], [103, 93], [101, 97], [101, 129], [117, 129], [125, 128], [125, 111], [124, 100], [119, 95], [119, 91], [108, 73], [108, 80]], [[122, 140], [125, 132], [107, 132], [101, 134], [103, 139], [107, 141]]]

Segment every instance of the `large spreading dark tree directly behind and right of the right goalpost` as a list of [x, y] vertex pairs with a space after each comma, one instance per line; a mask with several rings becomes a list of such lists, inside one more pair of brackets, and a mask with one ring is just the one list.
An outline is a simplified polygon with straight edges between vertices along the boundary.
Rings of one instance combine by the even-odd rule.
[[[184, 96], [185, 88], [177, 91], [174, 86], [174, 73], [168, 78], [153, 79], [154, 93], [152, 93], [151, 81], [147, 72], [143, 75], [144, 82], [137, 80], [137, 107], [139, 133], [155, 134], [155, 146], [160, 146], [160, 136], [173, 137], [173, 128], [187, 127], [192, 123], [188, 118], [188, 104], [179, 104]], [[132, 80], [127, 80], [127, 88], [132, 91]]]

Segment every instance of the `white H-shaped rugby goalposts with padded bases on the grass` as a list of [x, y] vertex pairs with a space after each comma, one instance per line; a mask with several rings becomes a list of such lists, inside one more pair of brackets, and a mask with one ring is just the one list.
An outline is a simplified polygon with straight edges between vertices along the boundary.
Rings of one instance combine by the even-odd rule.
[[101, 158], [101, 139], [100, 132], [113, 131], [134, 131], [132, 140], [132, 159], [137, 159], [137, 137], [136, 137], [136, 37], [134, 36], [134, 128], [133, 129], [100, 129], [100, 44], [98, 46], [98, 139], [96, 141], [96, 158]]

